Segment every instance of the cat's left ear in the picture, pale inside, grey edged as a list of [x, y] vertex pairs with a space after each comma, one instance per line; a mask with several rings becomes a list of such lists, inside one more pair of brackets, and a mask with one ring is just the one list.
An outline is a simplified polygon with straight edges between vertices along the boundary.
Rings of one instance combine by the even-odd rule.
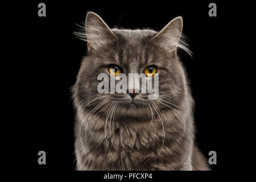
[[88, 50], [97, 49], [115, 38], [108, 25], [96, 13], [89, 12], [86, 15], [85, 30]]

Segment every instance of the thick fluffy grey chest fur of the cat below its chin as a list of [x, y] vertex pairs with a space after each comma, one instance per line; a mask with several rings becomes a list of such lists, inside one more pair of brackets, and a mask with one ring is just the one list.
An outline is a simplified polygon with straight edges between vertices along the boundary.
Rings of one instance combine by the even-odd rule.
[[[191, 141], [188, 141], [187, 136], [182, 142], [173, 140], [168, 137], [168, 133], [173, 132], [170, 129], [166, 129], [167, 137], [163, 140], [163, 127], [159, 125], [158, 119], [131, 126], [121, 122], [106, 125], [99, 116], [82, 125], [81, 122], [79, 125], [77, 121], [77, 130], [82, 126], [81, 135], [76, 136], [80, 170], [179, 169], [184, 167], [180, 164], [189, 158], [189, 149], [186, 150], [184, 143], [187, 140], [189, 146]], [[180, 151], [183, 155], [177, 155]]]

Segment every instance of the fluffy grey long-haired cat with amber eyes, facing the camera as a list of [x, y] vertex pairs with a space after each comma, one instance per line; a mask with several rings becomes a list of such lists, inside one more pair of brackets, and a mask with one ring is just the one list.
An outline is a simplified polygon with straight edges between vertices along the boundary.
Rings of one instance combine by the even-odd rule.
[[[191, 53], [178, 16], [160, 32], [110, 29], [86, 15], [87, 42], [75, 85], [77, 170], [210, 170], [195, 145], [194, 101], [177, 49]], [[122, 72], [159, 76], [159, 97], [150, 93], [98, 93], [97, 76]]]

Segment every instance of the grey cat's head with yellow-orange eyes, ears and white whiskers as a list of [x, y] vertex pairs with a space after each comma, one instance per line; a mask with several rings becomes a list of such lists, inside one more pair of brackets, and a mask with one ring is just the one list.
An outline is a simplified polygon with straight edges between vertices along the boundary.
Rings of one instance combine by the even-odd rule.
[[[168, 109], [166, 105], [170, 104], [178, 107], [187, 89], [184, 69], [176, 53], [181, 45], [182, 26], [182, 19], [178, 17], [160, 32], [110, 30], [100, 16], [88, 13], [85, 23], [88, 55], [82, 60], [73, 86], [76, 103], [87, 111], [100, 111], [104, 117], [115, 110], [115, 118], [122, 121], [150, 121], [152, 110]], [[129, 73], [144, 73], [153, 85], [157, 74], [159, 96], [149, 100], [152, 93], [141, 93], [142, 81], [137, 90], [139, 93], [135, 93], [135, 89], [129, 90], [128, 84], [127, 93], [100, 94], [97, 86], [101, 80], [97, 77], [101, 73], [108, 75], [109, 80], [120, 73], [128, 80]], [[115, 85], [117, 83], [115, 81]]]

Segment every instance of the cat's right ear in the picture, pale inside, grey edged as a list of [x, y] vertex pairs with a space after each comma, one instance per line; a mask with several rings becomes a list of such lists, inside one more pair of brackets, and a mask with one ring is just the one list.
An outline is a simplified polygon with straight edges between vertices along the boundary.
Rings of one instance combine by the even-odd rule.
[[183, 28], [183, 20], [181, 16], [174, 18], [169, 22], [158, 34], [156, 34], [152, 41], [160, 46], [169, 49], [170, 51], [177, 51], [177, 46]]

